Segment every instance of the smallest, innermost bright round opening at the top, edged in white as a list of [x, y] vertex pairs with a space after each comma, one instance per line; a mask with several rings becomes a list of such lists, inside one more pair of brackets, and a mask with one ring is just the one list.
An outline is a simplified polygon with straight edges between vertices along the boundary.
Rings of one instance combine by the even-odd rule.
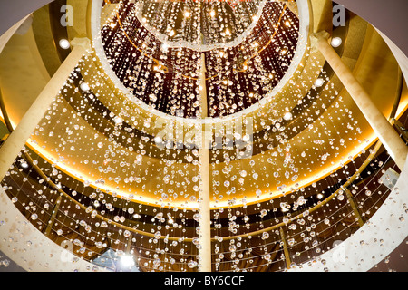
[[160, 42], [202, 52], [241, 43], [257, 24], [265, 3], [141, 0], [134, 14]]

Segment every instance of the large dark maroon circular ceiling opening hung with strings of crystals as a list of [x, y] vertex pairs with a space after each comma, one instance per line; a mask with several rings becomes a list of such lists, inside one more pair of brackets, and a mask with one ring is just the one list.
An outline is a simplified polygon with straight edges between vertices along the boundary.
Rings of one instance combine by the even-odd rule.
[[[299, 40], [299, 19], [282, 2], [121, 1], [116, 11], [102, 27], [102, 43], [131, 101], [187, 119], [202, 110], [210, 118], [232, 116], [264, 99], [286, 75]], [[202, 51], [204, 44], [213, 47]]]

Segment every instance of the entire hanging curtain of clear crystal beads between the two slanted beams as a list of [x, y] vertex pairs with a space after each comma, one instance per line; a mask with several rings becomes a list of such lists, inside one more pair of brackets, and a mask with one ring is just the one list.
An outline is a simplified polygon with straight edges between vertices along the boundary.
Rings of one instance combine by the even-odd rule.
[[[322, 55], [307, 51], [306, 73], [275, 93], [302, 57], [295, 3], [122, 0], [103, 11], [103, 52], [127, 92], [83, 57], [30, 140], [52, 157], [24, 148], [3, 184], [75, 258], [282, 271], [315, 261], [386, 198], [363, 169], [393, 165], [374, 159], [381, 144]], [[334, 31], [340, 53], [346, 33]]]

